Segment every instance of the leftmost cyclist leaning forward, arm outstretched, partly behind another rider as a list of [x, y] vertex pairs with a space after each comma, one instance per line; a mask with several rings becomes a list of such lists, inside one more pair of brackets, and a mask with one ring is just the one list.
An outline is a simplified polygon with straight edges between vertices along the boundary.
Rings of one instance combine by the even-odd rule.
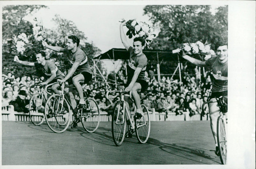
[[[44, 51], [40, 51], [36, 54], [37, 62], [27, 62], [21, 61], [18, 56], [14, 57], [14, 61], [27, 66], [35, 66], [40, 72], [43, 72], [46, 77], [49, 77], [45, 82], [42, 82], [41, 85], [47, 85], [54, 82], [57, 82], [57, 79], [63, 79], [65, 75], [58, 69], [58, 67], [52, 62], [45, 60]], [[59, 84], [52, 85], [51, 89], [54, 93], [60, 94], [57, 90]], [[44, 93], [46, 95], [46, 93]]]

